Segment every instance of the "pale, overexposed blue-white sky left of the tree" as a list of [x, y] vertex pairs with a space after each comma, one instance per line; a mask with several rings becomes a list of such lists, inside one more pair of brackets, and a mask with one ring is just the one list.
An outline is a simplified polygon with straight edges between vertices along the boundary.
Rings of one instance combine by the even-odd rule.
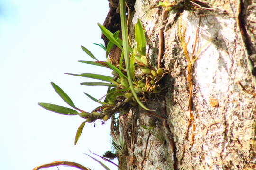
[[90, 149], [102, 155], [111, 150], [110, 122], [96, 121], [95, 128], [86, 124], [74, 146], [83, 119], [50, 112], [37, 103], [68, 107], [52, 88], [53, 81], [78, 108], [91, 112], [99, 105], [83, 92], [101, 98], [106, 88], [82, 86], [79, 83], [92, 79], [64, 73], [111, 75], [106, 68], [77, 62], [91, 60], [81, 45], [105, 59], [104, 51], [93, 43], [103, 43], [97, 22], [103, 24], [108, 10], [107, 0], [0, 0], [1, 170], [31, 170], [53, 161], [103, 170], [83, 153]]

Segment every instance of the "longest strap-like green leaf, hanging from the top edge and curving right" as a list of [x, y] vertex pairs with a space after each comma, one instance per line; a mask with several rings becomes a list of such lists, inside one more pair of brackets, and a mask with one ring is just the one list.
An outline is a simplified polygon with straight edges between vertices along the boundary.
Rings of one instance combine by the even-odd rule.
[[121, 28], [122, 28], [122, 38], [123, 38], [123, 50], [124, 50], [124, 58], [125, 58], [125, 67], [127, 69], [127, 76], [128, 76], [128, 81], [130, 85], [131, 92], [138, 102], [138, 104], [145, 110], [149, 111], [155, 111], [155, 110], [150, 110], [144, 106], [142, 102], [140, 102], [136, 92], [134, 91], [133, 88], [133, 82], [132, 82], [132, 76], [131, 76], [131, 70], [130, 70], [130, 60], [129, 60], [129, 45], [128, 45], [128, 28], [126, 26], [126, 15], [125, 15], [125, 4], [124, 0], [120, 0], [120, 15], [121, 15]]

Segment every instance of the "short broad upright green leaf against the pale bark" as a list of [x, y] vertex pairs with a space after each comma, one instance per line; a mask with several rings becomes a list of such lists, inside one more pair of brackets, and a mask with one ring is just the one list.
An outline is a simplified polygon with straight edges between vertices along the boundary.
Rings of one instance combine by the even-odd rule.
[[141, 55], [146, 56], [146, 38], [139, 19], [137, 19], [137, 23], [135, 24], [135, 41], [137, 42], [138, 51]]

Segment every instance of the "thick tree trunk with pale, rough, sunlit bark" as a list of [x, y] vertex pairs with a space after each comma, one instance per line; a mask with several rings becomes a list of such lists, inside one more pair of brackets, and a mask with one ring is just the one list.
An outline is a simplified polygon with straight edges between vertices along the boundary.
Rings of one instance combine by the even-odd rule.
[[[156, 115], [139, 107], [119, 114], [128, 148], [121, 169], [255, 169], [256, 1], [176, 0], [164, 22], [157, 1], [128, 0], [131, 40], [139, 18], [156, 68], [163, 28], [161, 63], [170, 72], [163, 93], [144, 101]], [[188, 64], [188, 56], [198, 59]]]

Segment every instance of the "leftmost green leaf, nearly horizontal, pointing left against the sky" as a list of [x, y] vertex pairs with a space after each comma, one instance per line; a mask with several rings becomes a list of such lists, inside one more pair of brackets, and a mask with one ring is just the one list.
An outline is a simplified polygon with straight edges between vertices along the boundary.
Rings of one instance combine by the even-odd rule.
[[39, 106], [43, 107], [46, 110], [59, 113], [59, 114], [64, 114], [64, 115], [77, 115], [78, 112], [76, 110], [66, 108], [63, 106], [58, 106], [55, 104], [49, 104], [49, 103], [38, 103]]

